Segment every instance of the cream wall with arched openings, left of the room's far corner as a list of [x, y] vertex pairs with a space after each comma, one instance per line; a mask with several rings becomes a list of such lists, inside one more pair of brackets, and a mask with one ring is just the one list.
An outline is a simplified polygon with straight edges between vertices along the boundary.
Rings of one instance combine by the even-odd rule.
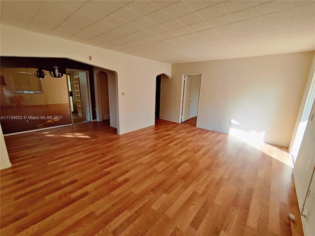
[[[156, 77], [171, 64], [1, 25], [1, 56], [74, 59], [117, 72], [118, 133], [155, 124]], [[92, 60], [89, 59], [92, 56]], [[125, 93], [125, 95], [123, 95]]]

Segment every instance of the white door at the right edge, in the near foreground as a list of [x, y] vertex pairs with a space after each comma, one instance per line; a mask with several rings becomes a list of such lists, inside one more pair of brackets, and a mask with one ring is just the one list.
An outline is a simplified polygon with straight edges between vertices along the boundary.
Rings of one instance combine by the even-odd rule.
[[[306, 236], [315, 235], [315, 181], [311, 177], [315, 168], [315, 102], [308, 120], [301, 148], [293, 169], [293, 177], [300, 212], [305, 202], [302, 223]], [[309, 189], [310, 186], [310, 189]], [[308, 190], [311, 190], [308, 193]]]

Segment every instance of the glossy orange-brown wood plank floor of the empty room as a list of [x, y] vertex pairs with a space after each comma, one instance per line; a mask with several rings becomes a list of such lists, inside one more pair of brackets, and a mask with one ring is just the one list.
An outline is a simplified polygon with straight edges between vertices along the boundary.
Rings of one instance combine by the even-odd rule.
[[5, 137], [0, 235], [291, 236], [290, 212], [303, 235], [291, 167], [194, 124]]

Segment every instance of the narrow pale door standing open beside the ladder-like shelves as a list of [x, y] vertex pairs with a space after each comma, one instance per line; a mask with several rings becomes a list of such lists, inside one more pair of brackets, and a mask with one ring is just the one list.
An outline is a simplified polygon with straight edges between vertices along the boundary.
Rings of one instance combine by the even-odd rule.
[[90, 94], [89, 94], [89, 84], [87, 72], [79, 72], [80, 77], [80, 93], [81, 93], [81, 106], [83, 118], [88, 121], [91, 121], [90, 113]]

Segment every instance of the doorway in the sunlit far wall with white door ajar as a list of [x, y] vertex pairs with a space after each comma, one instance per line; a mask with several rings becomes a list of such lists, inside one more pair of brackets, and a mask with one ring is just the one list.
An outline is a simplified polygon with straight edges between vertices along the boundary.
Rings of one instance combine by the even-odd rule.
[[182, 94], [180, 106], [180, 122], [194, 119], [197, 123], [201, 74], [186, 74], [182, 78]]

